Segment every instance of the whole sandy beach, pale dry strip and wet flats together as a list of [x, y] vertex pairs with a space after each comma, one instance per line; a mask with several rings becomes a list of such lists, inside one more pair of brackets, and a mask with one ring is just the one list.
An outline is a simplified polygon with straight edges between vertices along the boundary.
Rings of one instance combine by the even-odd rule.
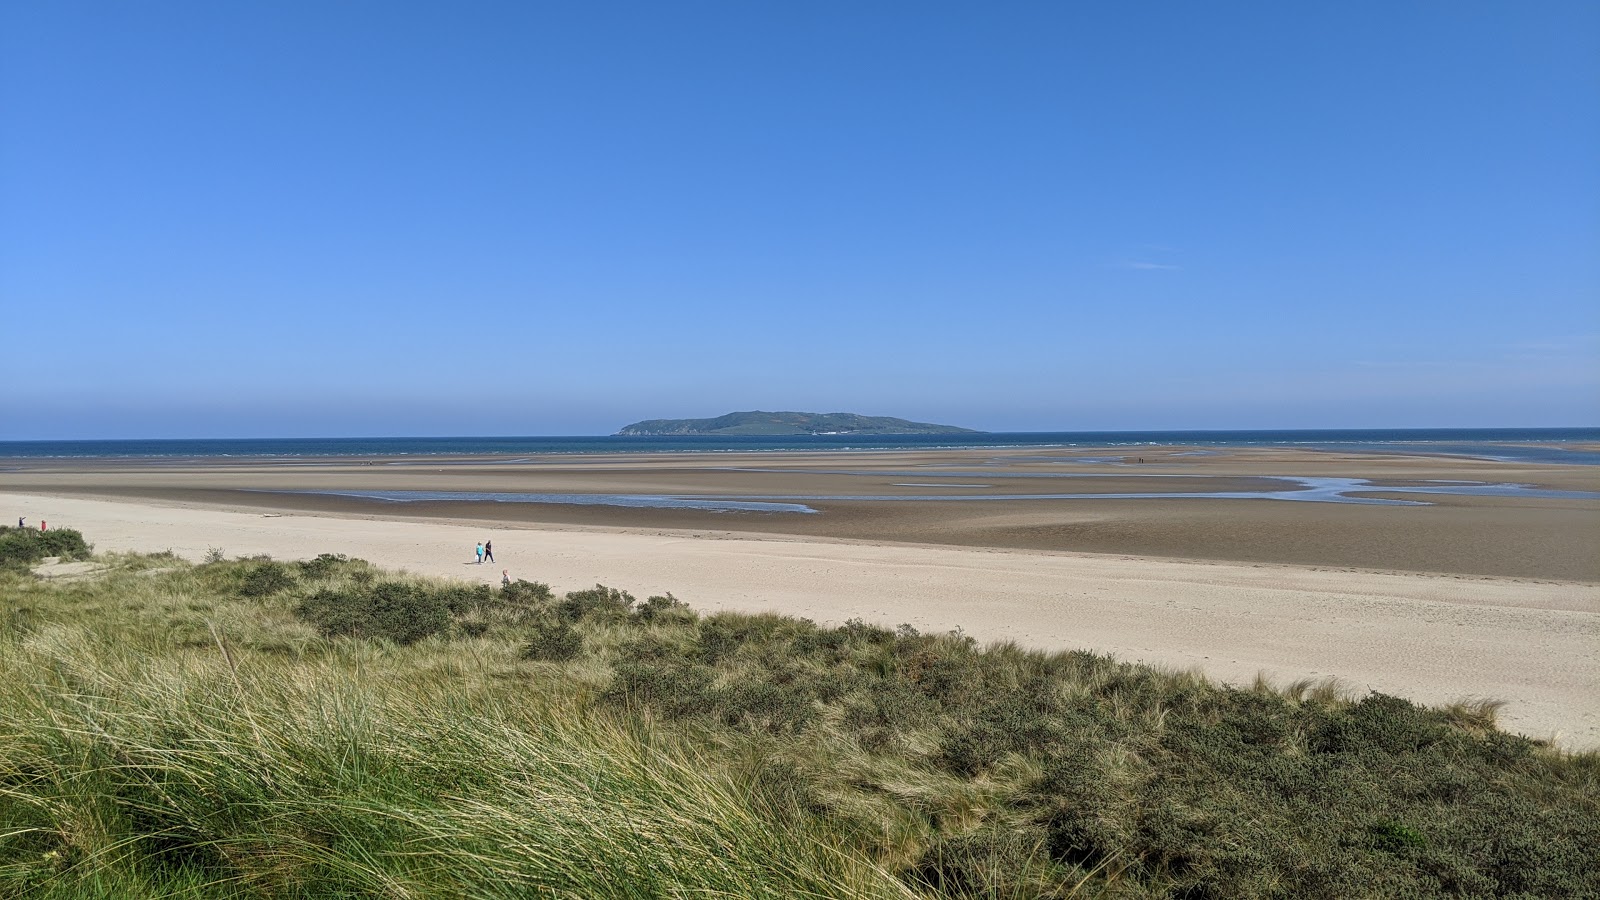
[[[490, 583], [507, 569], [558, 591], [605, 583], [638, 597], [670, 591], [701, 610], [960, 628], [1230, 682], [1338, 677], [1426, 703], [1488, 697], [1507, 701], [1501, 721], [1514, 730], [1600, 746], [1600, 501], [1397, 492], [1594, 492], [1594, 468], [1141, 453], [8, 460], [0, 512], [78, 528], [99, 551], [344, 552]], [[1008, 500], [1138, 493], [1157, 480], [1166, 493], [1250, 492], [1283, 477], [1368, 479], [1358, 496], [1426, 504]], [[835, 500], [795, 514], [282, 493], [304, 490]], [[939, 492], [971, 500], [910, 500]], [[472, 562], [483, 538], [494, 565]]]

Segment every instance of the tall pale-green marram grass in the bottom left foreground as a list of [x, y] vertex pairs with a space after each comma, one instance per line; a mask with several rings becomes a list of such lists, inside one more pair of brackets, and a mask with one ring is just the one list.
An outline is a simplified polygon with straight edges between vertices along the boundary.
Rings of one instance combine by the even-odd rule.
[[0, 886], [62, 897], [898, 897], [694, 748], [360, 653], [234, 671], [43, 629], [0, 666]]

